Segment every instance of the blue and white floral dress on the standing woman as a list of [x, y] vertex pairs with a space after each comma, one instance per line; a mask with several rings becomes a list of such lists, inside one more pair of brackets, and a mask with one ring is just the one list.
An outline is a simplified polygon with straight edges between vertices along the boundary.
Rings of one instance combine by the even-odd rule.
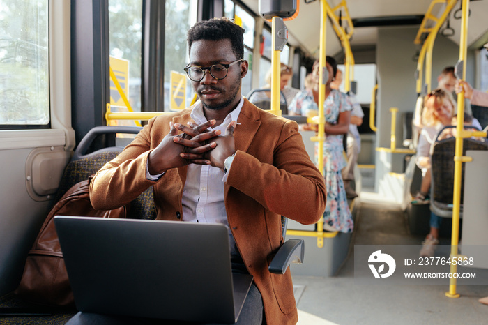
[[[323, 103], [326, 122], [336, 124], [339, 114], [352, 109], [350, 100], [344, 93], [332, 90]], [[300, 91], [290, 106], [289, 112], [307, 116], [307, 112], [317, 111], [317, 104], [311, 90]], [[323, 171], [326, 179], [327, 203], [323, 213], [323, 222], [340, 232], [352, 232], [353, 218], [347, 204], [346, 190], [342, 181], [342, 168], [346, 167], [346, 159], [342, 153], [342, 135], [326, 135], [323, 142]], [[315, 146], [317, 163], [318, 144]]]

